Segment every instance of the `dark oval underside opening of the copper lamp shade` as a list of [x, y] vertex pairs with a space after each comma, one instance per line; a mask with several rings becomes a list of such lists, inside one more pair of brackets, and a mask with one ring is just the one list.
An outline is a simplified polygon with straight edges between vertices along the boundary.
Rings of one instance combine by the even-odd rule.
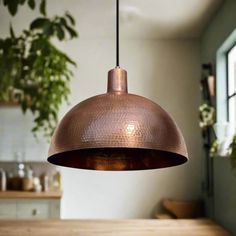
[[[136, 155], [133, 156], [133, 153]], [[187, 162], [188, 156], [145, 148], [104, 147], [65, 151], [49, 156], [47, 161], [58, 166], [77, 169], [139, 171], [178, 166]]]

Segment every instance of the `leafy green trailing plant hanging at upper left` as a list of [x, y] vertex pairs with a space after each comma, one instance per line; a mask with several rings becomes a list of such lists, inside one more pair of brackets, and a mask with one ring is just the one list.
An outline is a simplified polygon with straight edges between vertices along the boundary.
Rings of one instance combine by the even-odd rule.
[[[38, 2], [38, 1], [37, 1]], [[24, 4], [34, 10], [35, 0], [3, 0], [11, 15]], [[40, 17], [30, 23], [28, 29], [16, 36], [10, 25], [10, 36], [0, 39], [0, 100], [16, 101], [22, 111], [34, 116], [32, 131], [43, 131], [50, 136], [57, 124], [57, 114], [70, 92], [69, 81], [76, 63], [52, 43], [76, 38], [74, 18], [47, 17], [46, 0], [39, 4]]]

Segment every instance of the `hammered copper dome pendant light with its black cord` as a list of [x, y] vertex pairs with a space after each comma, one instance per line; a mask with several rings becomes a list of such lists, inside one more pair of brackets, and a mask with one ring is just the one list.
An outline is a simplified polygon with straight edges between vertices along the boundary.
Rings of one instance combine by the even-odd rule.
[[50, 163], [93, 170], [145, 170], [183, 164], [188, 154], [170, 115], [127, 91], [119, 67], [119, 0], [116, 1], [117, 66], [108, 72], [107, 93], [74, 106], [58, 125]]

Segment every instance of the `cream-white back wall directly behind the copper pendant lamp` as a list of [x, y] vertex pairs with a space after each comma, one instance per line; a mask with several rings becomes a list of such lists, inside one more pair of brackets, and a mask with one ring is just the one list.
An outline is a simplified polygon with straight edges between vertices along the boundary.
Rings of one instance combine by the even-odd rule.
[[[68, 10], [79, 9], [67, 2]], [[49, 4], [49, 8], [56, 11], [60, 5]], [[6, 23], [4, 14], [0, 16], [1, 25]], [[80, 14], [74, 15], [81, 22]], [[31, 13], [17, 18], [17, 28], [29, 18]], [[4, 25], [0, 30], [5, 33], [6, 28]], [[70, 107], [106, 91], [107, 71], [115, 63], [113, 39], [96, 35], [83, 37], [80, 32], [78, 40], [58, 45], [78, 63], [71, 82]], [[190, 161], [179, 167], [141, 172], [62, 168], [63, 218], [148, 218], [163, 197], [195, 199], [200, 196], [198, 41], [122, 39], [121, 66], [128, 71], [131, 93], [158, 102], [174, 117], [186, 138]], [[64, 105], [60, 115], [68, 109]]]

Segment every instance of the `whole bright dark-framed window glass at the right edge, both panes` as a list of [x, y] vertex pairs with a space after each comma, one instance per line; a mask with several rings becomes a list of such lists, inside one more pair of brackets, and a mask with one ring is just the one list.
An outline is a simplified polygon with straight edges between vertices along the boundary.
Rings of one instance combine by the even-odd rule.
[[227, 108], [228, 121], [236, 127], [236, 45], [227, 54]]

